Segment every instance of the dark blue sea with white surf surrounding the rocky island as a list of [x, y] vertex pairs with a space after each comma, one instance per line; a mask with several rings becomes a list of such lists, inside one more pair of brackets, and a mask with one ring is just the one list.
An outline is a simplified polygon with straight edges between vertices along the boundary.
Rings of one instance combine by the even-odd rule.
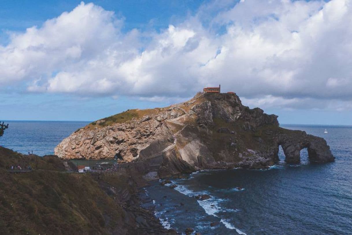
[[[0, 137], [6, 148], [37, 155], [53, 154], [63, 138], [89, 122], [8, 121]], [[281, 125], [324, 137], [335, 162], [280, 162], [267, 170], [200, 171], [188, 179], [172, 179], [176, 188], [158, 181], [145, 188], [144, 204], [167, 228], [201, 234], [352, 234], [352, 127]], [[324, 134], [327, 129], [328, 133]], [[209, 194], [199, 201], [193, 196]], [[210, 226], [210, 223], [215, 222]]]

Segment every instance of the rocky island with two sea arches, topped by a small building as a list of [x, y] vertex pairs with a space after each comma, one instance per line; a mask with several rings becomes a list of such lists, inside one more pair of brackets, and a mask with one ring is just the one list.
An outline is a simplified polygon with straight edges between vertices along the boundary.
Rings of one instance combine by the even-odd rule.
[[300, 162], [303, 148], [308, 148], [311, 162], [334, 161], [323, 138], [280, 128], [276, 115], [243, 106], [236, 94], [199, 93], [163, 109], [119, 115], [77, 130], [55, 154], [64, 159], [148, 161], [160, 176], [194, 169], [264, 168], [278, 161], [279, 145], [289, 163]]

